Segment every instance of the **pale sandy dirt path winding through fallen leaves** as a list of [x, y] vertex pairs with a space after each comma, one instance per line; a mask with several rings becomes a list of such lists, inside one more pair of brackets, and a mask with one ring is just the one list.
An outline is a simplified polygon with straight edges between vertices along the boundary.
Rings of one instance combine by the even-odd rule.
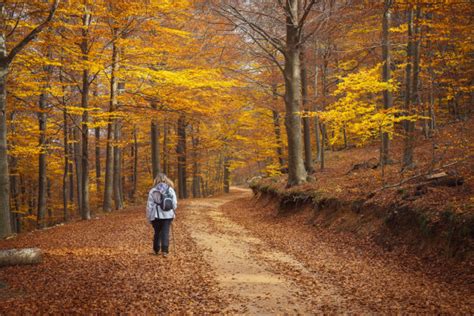
[[[232, 297], [226, 311], [261, 315], [308, 314], [328, 308], [339, 310], [344, 299], [337, 288], [322, 284], [317, 275], [292, 256], [273, 249], [224, 215], [221, 209], [223, 204], [248, 196], [250, 192], [233, 188], [232, 194], [226, 197], [192, 200], [187, 208], [185, 221], [191, 236], [199, 247], [205, 249], [205, 258], [214, 268], [216, 280], [224, 293]], [[317, 305], [308, 304], [310, 293], [274, 271], [268, 261], [286, 266], [301, 278], [313, 282], [320, 289]], [[354, 305], [352, 311], [364, 310]]]

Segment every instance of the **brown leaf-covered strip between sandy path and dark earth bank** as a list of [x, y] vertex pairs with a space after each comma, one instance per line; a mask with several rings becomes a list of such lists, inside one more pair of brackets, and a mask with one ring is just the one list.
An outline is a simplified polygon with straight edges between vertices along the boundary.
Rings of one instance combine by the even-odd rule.
[[[350, 226], [342, 217], [335, 216], [329, 226], [318, 225], [317, 220], [313, 225], [312, 209], [299, 205], [293, 212], [282, 214], [278, 206], [269, 196], [258, 201], [248, 196], [224, 204], [222, 210], [253, 236], [300, 262], [319, 281], [337, 288], [343, 302], [373, 312], [474, 312], [469, 263], [458, 269], [450, 269], [446, 260], [428, 264], [406, 248], [384, 250], [369, 233], [337, 231], [338, 222], [346, 221]], [[310, 279], [282, 264], [268, 262], [303, 287], [309, 298], [318, 296], [319, 288]]]

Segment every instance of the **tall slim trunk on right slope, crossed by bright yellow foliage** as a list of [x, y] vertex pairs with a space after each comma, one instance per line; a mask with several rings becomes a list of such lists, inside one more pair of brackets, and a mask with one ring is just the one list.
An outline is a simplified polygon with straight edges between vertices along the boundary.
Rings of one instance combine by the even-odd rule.
[[[391, 6], [393, 0], [385, 0], [384, 13], [382, 19], [382, 62], [383, 72], [382, 81], [388, 82], [391, 78], [390, 69], [390, 23], [391, 23]], [[389, 90], [383, 92], [383, 107], [385, 110], [391, 108], [393, 105], [392, 93]], [[381, 161], [380, 163], [386, 165], [390, 162], [389, 155], [389, 135], [387, 132], [382, 132], [382, 144], [381, 144]]]

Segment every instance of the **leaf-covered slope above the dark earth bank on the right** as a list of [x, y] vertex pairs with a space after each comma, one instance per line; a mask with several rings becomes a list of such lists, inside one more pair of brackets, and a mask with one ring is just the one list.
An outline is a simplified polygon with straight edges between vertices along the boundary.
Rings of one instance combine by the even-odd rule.
[[[370, 200], [381, 207], [393, 203], [427, 210], [436, 221], [440, 213], [474, 214], [474, 119], [445, 124], [425, 139], [417, 134], [413, 168], [401, 171], [404, 141], [396, 137], [390, 142], [391, 163], [379, 165], [380, 144], [326, 152], [325, 168], [315, 164], [312, 179], [290, 190], [318, 192], [339, 200]], [[417, 130], [417, 133], [420, 131]], [[383, 169], [383, 170], [382, 170]], [[460, 177], [460, 185], [426, 184], [425, 176], [446, 172]], [[287, 175], [264, 178], [263, 183], [285, 190]], [[382, 187], [386, 187], [382, 190]]]

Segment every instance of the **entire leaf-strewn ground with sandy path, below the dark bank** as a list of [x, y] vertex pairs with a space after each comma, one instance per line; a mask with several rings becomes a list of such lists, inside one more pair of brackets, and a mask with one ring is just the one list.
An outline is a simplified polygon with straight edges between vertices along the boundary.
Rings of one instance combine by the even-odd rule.
[[0, 268], [0, 314], [474, 313], [472, 283], [432, 278], [307, 215], [277, 216], [233, 189], [181, 203], [168, 258], [151, 254], [143, 207], [3, 240], [40, 247], [44, 261]]

